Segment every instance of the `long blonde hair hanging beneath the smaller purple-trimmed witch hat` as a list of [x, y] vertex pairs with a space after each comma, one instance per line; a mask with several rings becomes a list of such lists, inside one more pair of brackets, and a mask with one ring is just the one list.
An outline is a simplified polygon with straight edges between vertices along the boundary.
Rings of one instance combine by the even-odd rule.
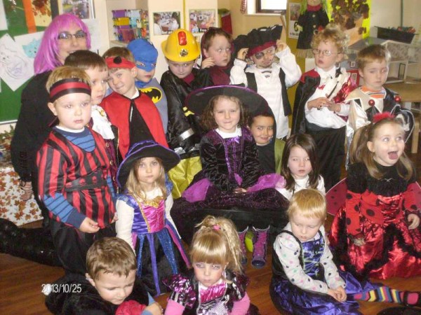
[[[136, 160], [136, 162], [133, 163], [133, 167], [130, 170], [130, 173], [128, 174], [128, 178], [126, 181], [126, 188], [128, 190], [128, 193], [130, 193], [133, 196], [140, 197], [141, 199], [146, 197], [146, 191], [143, 189], [142, 184], [139, 181], [139, 175], [138, 175], [138, 168], [139, 168], [140, 163], [142, 163], [143, 159], [144, 158], [140, 158]], [[168, 193], [165, 186], [165, 169], [163, 168], [162, 160], [160, 158], [156, 158], [156, 160], [159, 162], [161, 172], [159, 173], [159, 178], [156, 179], [155, 183], [156, 183], [156, 186], [158, 186], [159, 189], [161, 190], [163, 199], [166, 199]]]

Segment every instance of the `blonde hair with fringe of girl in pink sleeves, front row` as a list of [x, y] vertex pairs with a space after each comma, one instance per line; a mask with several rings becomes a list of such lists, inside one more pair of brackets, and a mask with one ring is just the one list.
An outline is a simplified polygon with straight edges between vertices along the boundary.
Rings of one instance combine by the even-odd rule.
[[196, 228], [190, 258], [192, 262], [206, 262], [227, 266], [236, 274], [241, 274], [241, 248], [239, 235], [231, 220], [206, 216]]

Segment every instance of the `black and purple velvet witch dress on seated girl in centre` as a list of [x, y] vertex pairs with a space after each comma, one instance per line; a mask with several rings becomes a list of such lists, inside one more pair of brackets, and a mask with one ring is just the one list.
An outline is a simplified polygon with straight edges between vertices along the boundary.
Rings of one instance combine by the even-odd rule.
[[[288, 223], [288, 200], [275, 189], [283, 186], [283, 177], [265, 174], [250, 131], [242, 127], [239, 134], [223, 138], [211, 130], [201, 139], [203, 169], [171, 209], [177, 230], [188, 244], [194, 225], [207, 214], [230, 218], [239, 230], [252, 222], [255, 228], [267, 228], [272, 223], [283, 228]], [[237, 187], [248, 192], [236, 194]]]

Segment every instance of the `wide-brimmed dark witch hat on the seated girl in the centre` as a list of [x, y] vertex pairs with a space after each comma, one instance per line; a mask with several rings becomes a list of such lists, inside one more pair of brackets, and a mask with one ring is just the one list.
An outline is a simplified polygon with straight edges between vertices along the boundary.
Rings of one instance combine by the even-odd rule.
[[250, 116], [257, 116], [258, 113], [265, 112], [272, 113], [272, 109], [270, 109], [264, 97], [247, 87], [238, 85], [215, 85], [194, 90], [187, 95], [185, 104], [189, 111], [201, 116], [210, 99], [217, 95], [237, 97]]

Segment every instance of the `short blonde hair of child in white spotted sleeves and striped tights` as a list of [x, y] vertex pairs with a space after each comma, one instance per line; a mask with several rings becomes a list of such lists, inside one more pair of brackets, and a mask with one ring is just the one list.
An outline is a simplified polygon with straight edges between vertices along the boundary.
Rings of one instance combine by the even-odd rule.
[[326, 199], [316, 189], [303, 189], [293, 195], [286, 214], [291, 218], [293, 214], [300, 214], [305, 218], [326, 219]]

